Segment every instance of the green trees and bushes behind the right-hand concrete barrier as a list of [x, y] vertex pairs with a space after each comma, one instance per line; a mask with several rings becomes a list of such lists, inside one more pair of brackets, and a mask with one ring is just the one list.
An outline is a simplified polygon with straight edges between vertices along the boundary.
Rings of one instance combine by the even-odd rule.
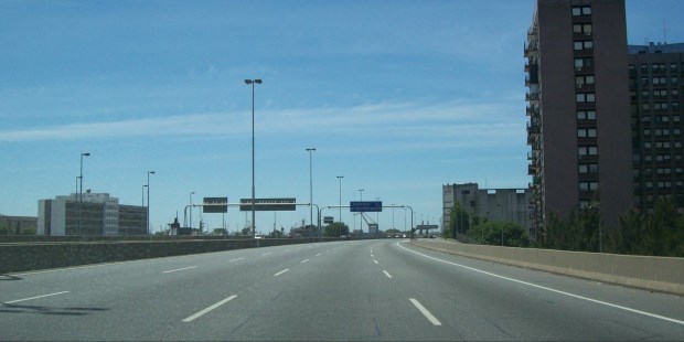
[[520, 224], [489, 221], [456, 203], [443, 235], [459, 234], [466, 235], [461, 241], [483, 245], [684, 257], [684, 215], [671, 200], [659, 200], [648, 213], [622, 214], [618, 227], [602, 224], [597, 205], [574, 211], [567, 220], [552, 214], [534, 242]]

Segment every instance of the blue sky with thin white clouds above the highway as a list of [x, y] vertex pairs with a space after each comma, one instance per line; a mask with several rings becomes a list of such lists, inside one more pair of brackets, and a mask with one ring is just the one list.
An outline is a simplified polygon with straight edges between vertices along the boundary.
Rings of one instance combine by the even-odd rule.
[[[194, 191], [380, 199], [437, 223], [441, 185], [525, 188], [525, 1], [0, 0], [0, 214], [84, 189], [140, 204], [151, 226]], [[684, 1], [627, 1], [631, 44], [684, 42]], [[338, 216], [338, 211], [323, 212]], [[194, 215], [196, 223], [197, 213]], [[279, 212], [289, 231], [309, 210]], [[221, 214], [205, 214], [209, 228]], [[232, 209], [228, 227], [243, 227]], [[352, 215], [343, 213], [352, 228]], [[396, 226], [404, 227], [397, 210]], [[392, 211], [380, 215], [381, 229]], [[257, 231], [274, 226], [257, 213]]]

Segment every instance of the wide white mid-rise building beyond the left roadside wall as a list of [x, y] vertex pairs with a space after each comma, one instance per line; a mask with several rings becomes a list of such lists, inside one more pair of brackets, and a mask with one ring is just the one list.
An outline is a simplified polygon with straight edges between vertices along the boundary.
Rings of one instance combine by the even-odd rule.
[[147, 235], [147, 215], [107, 193], [57, 196], [39, 201], [38, 235]]

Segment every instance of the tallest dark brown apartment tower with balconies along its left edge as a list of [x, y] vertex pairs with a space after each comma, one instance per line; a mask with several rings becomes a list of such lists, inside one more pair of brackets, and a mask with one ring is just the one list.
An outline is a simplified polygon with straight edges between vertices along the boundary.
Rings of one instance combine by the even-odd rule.
[[551, 215], [633, 206], [623, 0], [538, 0], [524, 56], [532, 237]]

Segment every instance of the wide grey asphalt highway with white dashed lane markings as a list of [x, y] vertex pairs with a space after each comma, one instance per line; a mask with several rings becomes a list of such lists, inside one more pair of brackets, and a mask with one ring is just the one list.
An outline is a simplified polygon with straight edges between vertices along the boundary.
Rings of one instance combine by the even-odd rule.
[[0, 340], [683, 340], [684, 298], [406, 239], [0, 276]]

